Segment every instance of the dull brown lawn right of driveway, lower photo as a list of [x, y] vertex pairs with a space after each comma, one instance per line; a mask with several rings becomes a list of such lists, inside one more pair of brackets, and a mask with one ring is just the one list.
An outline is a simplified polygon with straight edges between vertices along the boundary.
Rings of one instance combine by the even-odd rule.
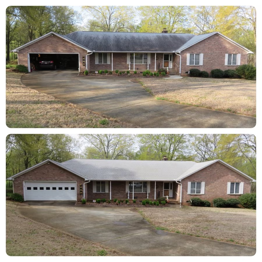
[[256, 210], [193, 206], [137, 210], [157, 229], [256, 246]]

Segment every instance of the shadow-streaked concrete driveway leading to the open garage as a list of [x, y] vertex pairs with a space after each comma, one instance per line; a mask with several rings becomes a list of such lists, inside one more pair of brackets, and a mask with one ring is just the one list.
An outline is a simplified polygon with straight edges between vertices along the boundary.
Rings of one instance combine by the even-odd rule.
[[[134, 78], [35, 71], [25, 86], [141, 128], [253, 128], [256, 118], [156, 100]], [[152, 80], [157, 81], [157, 80]]]

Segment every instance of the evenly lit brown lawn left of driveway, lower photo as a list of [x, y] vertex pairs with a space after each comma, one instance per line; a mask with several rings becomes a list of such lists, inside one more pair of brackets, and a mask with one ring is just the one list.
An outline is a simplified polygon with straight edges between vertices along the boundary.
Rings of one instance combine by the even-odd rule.
[[6, 201], [6, 253], [9, 256], [125, 256], [107, 247], [19, 215]]

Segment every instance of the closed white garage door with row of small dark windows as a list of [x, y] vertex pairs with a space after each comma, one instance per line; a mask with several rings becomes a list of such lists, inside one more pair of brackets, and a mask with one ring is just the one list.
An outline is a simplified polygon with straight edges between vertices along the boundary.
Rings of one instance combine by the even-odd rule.
[[77, 200], [76, 182], [25, 182], [25, 200]]

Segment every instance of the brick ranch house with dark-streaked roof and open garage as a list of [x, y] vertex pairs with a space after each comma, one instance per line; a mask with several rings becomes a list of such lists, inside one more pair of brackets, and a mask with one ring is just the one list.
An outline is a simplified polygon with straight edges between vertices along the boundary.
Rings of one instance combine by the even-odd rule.
[[127, 33], [77, 31], [65, 36], [50, 32], [14, 50], [18, 63], [30, 72], [46, 56], [57, 69], [134, 70], [169, 68], [187, 75], [198, 68], [235, 69], [247, 63], [253, 52], [219, 32], [193, 35], [188, 33]]

